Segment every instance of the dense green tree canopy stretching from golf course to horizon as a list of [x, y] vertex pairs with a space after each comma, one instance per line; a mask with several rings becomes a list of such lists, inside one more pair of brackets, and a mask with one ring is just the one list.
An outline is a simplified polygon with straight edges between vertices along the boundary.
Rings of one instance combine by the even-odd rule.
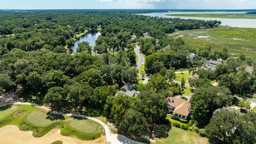
[[[206, 132], [202, 135], [214, 143], [235, 143], [238, 139], [237, 143], [255, 142], [256, 129], [247, 129], [255, 128], [255, 119], [251, 123], [249, 117], [255, 117], [255, 113], [249, 109], [243, 118], [234, 120], [243, 129], [234, 137], [224, 140], [221, 136], [212, 137], [214, 131], [209, 129], [217, 123], [210, 120], [213, 111], [235, 101], [231, 94], [256, 91], [255, 61], [243, 54], [229, 58], [225, 47], [222, 51], [212, 51], [210, 45], [187, 47], [181, 37], [170, 35], [176, 29], [213, 28], [221, 22], [153, 18], [132, 12], [151, 11], [1, 11], [1, 92], [13, 90], [22, 93], [25, 99], [33, 96], [54, 110], [104, 115], [114, 120], [120, 133], [137, 137], [145, 134], [149, 124], [166, 122], [166, 97], [181, 94], [185, 85], [185, 82], [181, 85], [172, 82], [174, 69], [188, 68], [199, 75], [199, 79], [189, 81], [197, 89], [190, 100], [194, 106], [193, 123], [188, 126], [206, 126], [205, 130], [201, 129]], [[94, 50], [102, 53], [102, 57], [91, 54], [92, 47], [87, 42], [80, 43], [76, 52], [70, 49], [76, 34], [86, 30], [101, 31]], [[137, 38], [133, 39], [133, 35]], [[146, 57], [145, 72], [150, 77], [146, 85], [138, 84], [135, 43]], [[198, 54], [201, 60], [187, 61], [190, 53]], [[220, 58], [225, 62], [215, 71], [201, 69], [205, 60]], [[249, 65], [254, 66], [252, 74], [242, 70]], [[212, 86], [212, 80], [219, 81], [220, 86]], [[129, 82], [140, 91], [139, 96], [119, 94], [114, 97], [116, 91]], [[225, 119], [221, 122], [225, 123]], [[245, 125], [245, 122], [250, 124]]]

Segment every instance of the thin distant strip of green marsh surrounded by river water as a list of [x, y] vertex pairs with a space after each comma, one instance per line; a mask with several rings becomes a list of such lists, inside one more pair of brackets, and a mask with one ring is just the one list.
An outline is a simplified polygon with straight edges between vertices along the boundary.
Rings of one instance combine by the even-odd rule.
[[256, 19], [256, 14], [246, 13], [180, 13], [167, 14], [175, 17], [197, 17], [197, 18], [226, 18], [226, 19]]

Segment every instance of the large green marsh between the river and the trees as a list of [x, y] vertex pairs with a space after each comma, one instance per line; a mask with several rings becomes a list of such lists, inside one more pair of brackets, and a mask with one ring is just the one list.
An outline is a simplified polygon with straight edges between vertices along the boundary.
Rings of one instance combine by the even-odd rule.
[[181, 36], [185, 44], [190, 47], [199, 47], [209, 44], [213, 50], [220, 51], [227, 47], [233, 57], [240, 53], [256, 58], [256, 29], [219, 27], [212, 29], [195, 29], [177, 31], [173, 36]]

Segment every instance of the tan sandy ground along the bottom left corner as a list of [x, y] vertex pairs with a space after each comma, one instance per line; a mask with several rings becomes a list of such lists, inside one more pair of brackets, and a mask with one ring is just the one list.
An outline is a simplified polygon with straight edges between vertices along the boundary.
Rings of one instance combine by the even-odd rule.
[[66, 137], [60, 134], [59, 129], [53, 129], [43, 137], [35, 138], [31, 131], [21, 131], [18, 126], [7, 125], [0, 128], [0, 144], [50, 144], [54, 141], [62, 141], [63, 144], [77, 143], [106, 143], [105, 136], [92, 141], [83, 141], [74, 137]]

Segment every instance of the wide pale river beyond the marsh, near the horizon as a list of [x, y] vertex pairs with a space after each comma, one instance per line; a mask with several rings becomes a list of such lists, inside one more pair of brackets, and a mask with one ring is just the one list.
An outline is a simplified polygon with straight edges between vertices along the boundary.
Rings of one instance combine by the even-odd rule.
[[[217, 20], [221, 21], [222, 26], [239, 27], [239, 28], [256, 28], [256, 19], [223, 19], [223, 18], [193, 18], [193, 17], [174, 17], [166, 14], [178, 14], [181, 12], [155, 12], [155, 13], [143, 13], [150, 17], [162, 17], [162, 18], [181, 18], [181, 19], [196, 19], [196, 20]], [[182, 12], [193, 13], [193, 12]]]

